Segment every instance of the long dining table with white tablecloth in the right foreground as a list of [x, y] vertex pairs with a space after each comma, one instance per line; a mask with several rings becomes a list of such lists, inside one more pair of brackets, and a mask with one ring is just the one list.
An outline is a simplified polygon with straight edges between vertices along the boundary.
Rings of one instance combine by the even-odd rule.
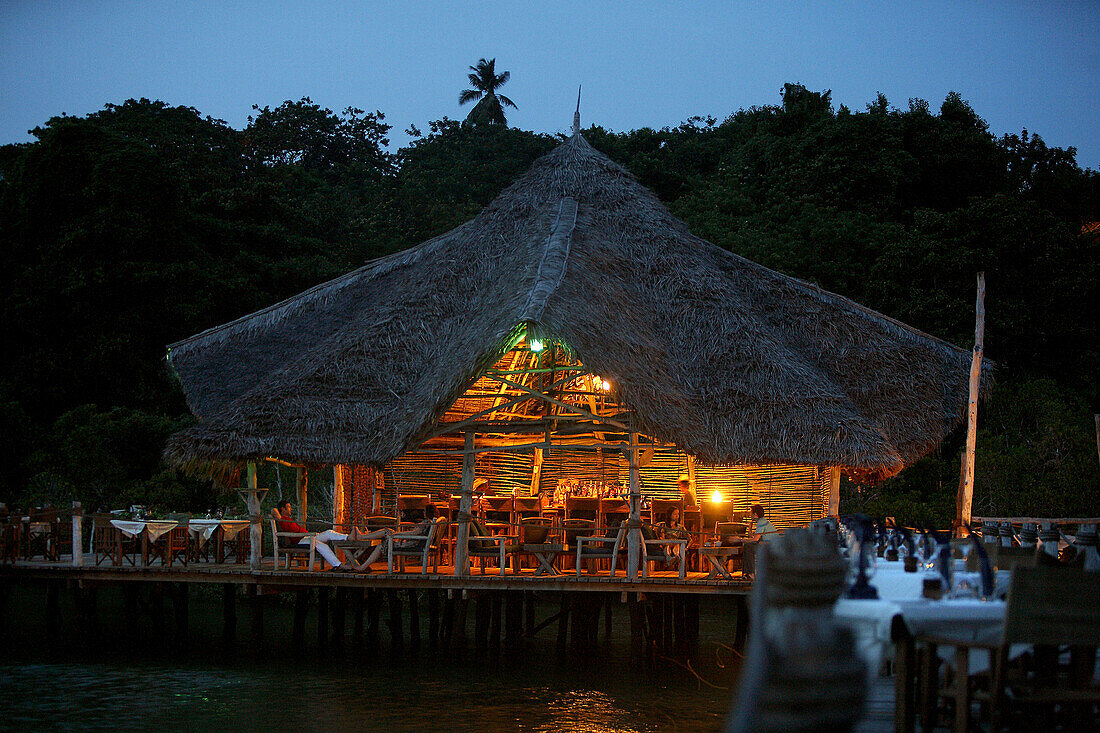
[[[894, 675], [894, 730], [913, 731], [916, 724], [916, 649], [923, 635], [959, 642], [991, 641], [1004, 626], [1010, 573], [994, 575], [993, 592], [979, 598], [980, 579], [966, 572], [965, 562], [955, 561], [954, 593], [938, 600], [923, 597], [925, 572], [905, 572], [900, 561], [879, 560], [870, 584], [877, 599], [840, 598], [833, 614], [837, 624], [851, 631], [856, 649], [867, 665], [868, 683], [878, 676], [883, 659], [891, 657]], [[944, 659], [952, 659], [943, 650]], [[971, 666], [971, 674], [981, 671]]]

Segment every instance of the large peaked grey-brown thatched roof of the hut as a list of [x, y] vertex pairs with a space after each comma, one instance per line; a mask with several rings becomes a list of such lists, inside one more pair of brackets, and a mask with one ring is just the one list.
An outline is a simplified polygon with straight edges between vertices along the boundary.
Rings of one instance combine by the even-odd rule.
[[891, 474], [959, 422], [970, 354], [693, 236], [580, 134], [475, 219], [170, 348], [177, 464], [382, 464], [528, 322], [710, 463]]

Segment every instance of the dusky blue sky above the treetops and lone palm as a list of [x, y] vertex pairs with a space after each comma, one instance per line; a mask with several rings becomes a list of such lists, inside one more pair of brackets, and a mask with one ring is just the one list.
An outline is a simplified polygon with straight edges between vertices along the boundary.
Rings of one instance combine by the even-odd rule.
[[864, 109], [963, 95], [1100, 168], [1100, 2], [55, 2], [0, 0], [0, 143], [131, 97], [235, 128], [309, 96], [409, 124], [462, 118], [466, 67], [512, 72], [510, 124], [614, 130], [774, 105], [784, 81]]

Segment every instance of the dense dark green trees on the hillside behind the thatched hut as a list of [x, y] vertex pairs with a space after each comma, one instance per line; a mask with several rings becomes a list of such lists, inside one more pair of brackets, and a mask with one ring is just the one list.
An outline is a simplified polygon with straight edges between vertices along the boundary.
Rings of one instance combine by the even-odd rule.
[[[205, 510], [158, 462], [189, 419], [165, 344], [474, 216], [557, 140], [446, 118], [387, 152], [382, 112], [308, 98], [233, 130], [130, 100], [0, 147], [0, 501]], [[961, 346], [989, 284], [976, 513], [1096, 514], [1096, 173], [1023, 131], [996, 139], [957, 95], [781, 103], [674, 129], [590, 128], [691, 229]], [[960, 439], [844, 502], [953, 514]]]

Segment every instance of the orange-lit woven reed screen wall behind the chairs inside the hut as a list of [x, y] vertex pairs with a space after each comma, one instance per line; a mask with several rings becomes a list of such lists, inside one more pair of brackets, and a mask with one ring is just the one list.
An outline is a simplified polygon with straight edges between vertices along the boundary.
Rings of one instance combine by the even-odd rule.
[[[649, 456], [644, 453], [640, 462], [638, 477], [644, 493], [654, 499], [680, 496], [676, 480], [688, 473], [685, 453], [662, 448]], [[520, 495], [529, 495], [534, 466], [532, 453], [481, 453], [474, 472], [490, 480], [490, 494], [508, 494], [515, 489]], [[397, 494], [435, 496], [440, 492], [461, 492], [462, 457], [405, 453], [386, 464], [383, 477], [382, 504], [392, 512]], [[629, 478], [627, 460], [619, 451], [552, 447], [543, 456], [539, 490], [553, 491], [561, 479], [617, 481], [627, 486]], [[825, 516], [828, 490], [829, 469], [816, 466], [695, 467], [695, 491], [700, 501], [708, 500], [718, 491], [723, 501], [733, 502], [735, 512], [746, 512], [752, 504], [760, 504], [778, 528]]]

